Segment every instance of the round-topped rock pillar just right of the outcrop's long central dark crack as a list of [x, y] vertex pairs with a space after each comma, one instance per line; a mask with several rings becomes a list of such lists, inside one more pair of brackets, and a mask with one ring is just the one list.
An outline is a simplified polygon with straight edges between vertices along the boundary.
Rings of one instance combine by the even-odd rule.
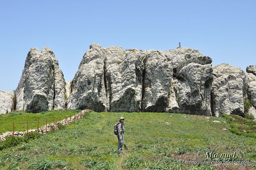
[[166, 112], [169, 105], [169, 89], [172, 80], [172, 63], [163, 52], [148, 50], [144, 58], [142, 73], [142, 110]]

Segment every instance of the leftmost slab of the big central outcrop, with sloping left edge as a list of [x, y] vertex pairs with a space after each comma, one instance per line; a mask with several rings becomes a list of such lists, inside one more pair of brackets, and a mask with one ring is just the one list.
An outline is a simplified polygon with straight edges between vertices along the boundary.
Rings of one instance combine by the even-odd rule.
[[108, 109], [104, 81], [105, 57], [106, 52], [100, 45], [90, 45], [71, 82], [68, 109], [91, 108], [98, 112]]

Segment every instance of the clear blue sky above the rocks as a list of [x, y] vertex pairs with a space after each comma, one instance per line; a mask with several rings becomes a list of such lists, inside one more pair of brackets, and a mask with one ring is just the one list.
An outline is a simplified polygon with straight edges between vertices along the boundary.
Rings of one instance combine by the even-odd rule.
[[198, 49], [246, 70], [256, 65], [255, 0], [6, 0], [0, 2], [0, 90], [18, 86], [28, 51], [50, 47], [72, 80], [91, 43]]

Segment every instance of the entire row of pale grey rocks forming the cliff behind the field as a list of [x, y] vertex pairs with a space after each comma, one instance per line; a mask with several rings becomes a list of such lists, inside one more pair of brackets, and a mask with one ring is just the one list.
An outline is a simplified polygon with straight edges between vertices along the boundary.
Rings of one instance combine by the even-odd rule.
[[91, 108], [244, 116], [248, 98], [249, 112], [256, 117], [256, 66], [248, 66], [245, 73], [228, 64], [212, 67], [211, 63], [210, 57], [190, 48], [162, 52], [91, 44], [74, 79], [65, 82], [52, 50], [31, 48], [16, 89], [16, 110]]

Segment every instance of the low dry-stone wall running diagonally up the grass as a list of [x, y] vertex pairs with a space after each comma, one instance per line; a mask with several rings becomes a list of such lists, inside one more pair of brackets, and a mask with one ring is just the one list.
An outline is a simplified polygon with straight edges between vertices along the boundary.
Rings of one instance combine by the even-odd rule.
[[[82, 110], [82, 112], [79, 112], [78, 114], [67, 118], [67, 119], [63, 119], [60, 122], [52, 122], [50, 124], [47, 124], [47, 132], [50, 132], [52, 130], [58, 130], [60, 127], [60, 123], [61, 126], [65, 126], [66, 124], [69, 124], [70, 122], [74, 122], [78, 119], [84, 118], [85, 113], [86, 112], [90, 112], [90, 110]], [[28, 130], [29, 132], [37, 132], [37, 129], [31, 129]], [[46, 132], [46, 125], [42, 126], [41, 128], [38, 128], [38, 133], [47, 133]], [[14, 137], [23, 137], [24, 135], [27, 135], [27, 130], [24, 132], [14, 132]], [[12, 132], [5, 132], [2, 135], [0, 135], [0, 140], [1, 141], [5, 141], [7, 136], [12, 136]]]

